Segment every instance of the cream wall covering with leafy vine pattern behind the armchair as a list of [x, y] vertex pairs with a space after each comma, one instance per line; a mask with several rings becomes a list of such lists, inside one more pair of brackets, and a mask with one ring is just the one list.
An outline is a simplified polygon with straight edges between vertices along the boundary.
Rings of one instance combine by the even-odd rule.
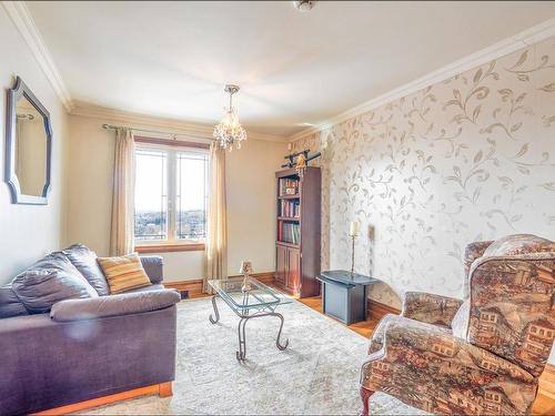
[[465, 245], [513, 233], [555, 240], [555, 38], [294, 143], [322, 150], [322, 267], [403, 291], [462, 297]]

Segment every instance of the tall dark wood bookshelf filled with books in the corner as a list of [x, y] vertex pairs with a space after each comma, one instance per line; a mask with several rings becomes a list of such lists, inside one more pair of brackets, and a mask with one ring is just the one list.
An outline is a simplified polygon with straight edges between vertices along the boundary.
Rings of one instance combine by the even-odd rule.
[[[320, 168], [275, 173], [278, 240], [274, 284], [299, 297], [320, 295], [321, 185]], [[289, 185], [289, 186], [287, 186]], [[285, 187], [295, 189], [294, 194]], [[283, 210], [289, 210], [284, 213]], [[291, 211], [295, 211], [294, 214]], [[295, 216], [292, 216], [295, 215]], [[297, 215], [297, 216], [296, 216]]]

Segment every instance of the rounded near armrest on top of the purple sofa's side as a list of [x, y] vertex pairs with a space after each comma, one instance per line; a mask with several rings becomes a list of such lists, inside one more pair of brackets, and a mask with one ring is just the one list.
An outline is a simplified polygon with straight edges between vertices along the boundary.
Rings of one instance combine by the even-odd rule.
[[178, 292], [162, 290], [84, 300], [67, 300], [58, 302], [52, 306], [50, 317], [57, 322], [72, 322], [131, 315], [163, 310], [176, 304], [180, 298]]

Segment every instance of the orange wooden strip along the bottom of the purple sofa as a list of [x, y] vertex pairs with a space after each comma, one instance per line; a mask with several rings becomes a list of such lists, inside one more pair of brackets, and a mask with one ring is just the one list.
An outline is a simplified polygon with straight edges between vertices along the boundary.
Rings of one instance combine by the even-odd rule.
[[50, 416], [50, 415], [67, 415], [70, 413], [75, 413], [84, 410], [91, 407], [104, 406], [115, 402], [128, 400], [130, 398], [135, 398], [140, 396], [154, 395], [158, 394], [160, 397], [169, 397], [172, 395], [172, 382], [153, 384], [152, 386], [145, 386], [140, 388], [134, 388], [132, 390], [127, 390], [122, 393], [115, 393], [103, 397], [92, 398], [90, 400], [74, 403], [72, 405], [65, 405], [49, 410], [42, 410], [39, 413], [33, 413], [32, 415]]

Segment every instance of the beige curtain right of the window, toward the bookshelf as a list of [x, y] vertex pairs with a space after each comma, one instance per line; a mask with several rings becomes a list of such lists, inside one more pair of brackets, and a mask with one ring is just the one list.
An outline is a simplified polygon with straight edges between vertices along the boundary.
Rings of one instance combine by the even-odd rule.
[[214, 142], [210, 148], [210, 202], [206, 235], [206, 281], [228, 277], [228, 214], [225, 202], [225, 150]]

